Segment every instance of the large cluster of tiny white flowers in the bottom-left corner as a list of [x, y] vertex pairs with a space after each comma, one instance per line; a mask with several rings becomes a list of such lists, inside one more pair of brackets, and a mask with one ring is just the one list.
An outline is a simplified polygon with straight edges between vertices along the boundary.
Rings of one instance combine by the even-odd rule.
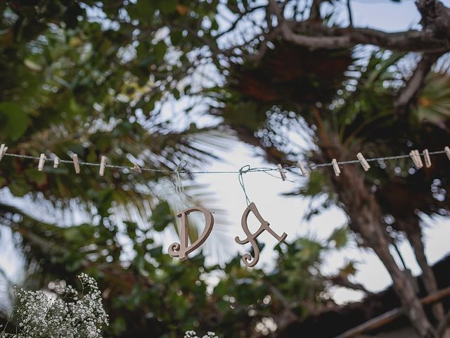
[[101, 338], [103, 325], [108, 325], [101, 292], [94, 278], [85, 273], [78, 278], [82, 297], [70, 286], [55, 287], [56, 295], [16, 289], [18, 334], [0, 332], [0, 338]]

